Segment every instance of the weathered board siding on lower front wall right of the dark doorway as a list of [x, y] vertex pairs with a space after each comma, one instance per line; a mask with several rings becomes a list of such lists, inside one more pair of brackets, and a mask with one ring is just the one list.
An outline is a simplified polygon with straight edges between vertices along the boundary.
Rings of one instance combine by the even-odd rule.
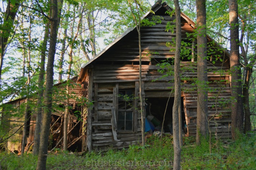
[[[214, 116], [210, 122], [211, 131], [218, 137], [231, 137], [231, 94], [229, 87], [229, 65], [227, 63], [212, 62], [208, 63], [208, 118]], [[220, 70], [221, 73], [220, 73]], [[189, 72], [196, 74], [196, 68]], [[186, 73], [185, 73], [186, 74]], [[186, 74], [194, 78], [196, 75]], [[221, 79], [221, 81], [219, 81]], [[220, 82], [220, 83], [219, 83]], [[197, 118], [197, 91], [191, 82], [184, 83], [184, 111], [186, 123], [188, 126], [188, 136], [196, 136], [196, 118]], [[217, 113], [216, 113], [217, 112]], [[216, 114], [216, 115], [215, 115]]]

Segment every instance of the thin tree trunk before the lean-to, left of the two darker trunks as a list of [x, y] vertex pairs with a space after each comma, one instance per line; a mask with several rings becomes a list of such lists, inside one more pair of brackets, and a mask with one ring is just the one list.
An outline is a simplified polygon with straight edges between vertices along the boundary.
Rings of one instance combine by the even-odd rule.
[[[27, 81], [27, 96], [29, 96], [30, 89], [30, 44], [31, 44], [31, 14], [29, 14], [29, 35], [28, 35], [28, 64], [27, 64], [27, 69], [28, 69], [28, 81]], [[23, 126], [23, 139], [22, 139], [22, 149], [21, 149], [21, 155], [24, 154], [25, 152], [25, 146], [26, 146], [26, 140], [27, 140], [27, 121], [28, 121], [28, 112], [29, 112], [29, 97], [27, 97], [27, 106], [26, 106], [26, 113], [25, 113], [25, 123]]]

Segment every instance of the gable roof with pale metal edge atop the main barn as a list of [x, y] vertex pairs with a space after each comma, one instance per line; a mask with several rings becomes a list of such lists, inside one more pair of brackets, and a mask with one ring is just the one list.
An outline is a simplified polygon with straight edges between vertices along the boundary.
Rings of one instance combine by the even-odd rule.
[[[157, 1], [152, 7], [151, 7], [151, 11], [153, 11], [154, 13], [156, 13], [161, 7], [164, 7], [167, 11], [173, 11], [174, 9], [172, 7], [170, 7], [166, 2], [162, 3], [162, 0]], [[141, 17], [141, 19], [147, 18], [148, 16], [152, 15], [152, 12], [147, 12], [143, 17]], [[181, 12], [181, 18], [187, 22], [188, 25], [190, 25], [193, 29], [196, 29], [196, 24], [193, 20], [191, 20], [187, 15], [185, 15], [184, 13]], [[94, 62], [95, 60], [97, 60], [97, 58], [99, 58], [102, 54], [104, 54], [106, 51], [108, 51], [113, 45], [115, 45], [119, 40], [121, 40], [124, 36], [126, 36], [128, 33], [132, 32], [134, 29], [136, 29], [136, 26], [132, 27], [132, 28], [128, 28], [123, 34], [121, 34], [119, 37], [117, 37], [114, 41], [112, 41], [112, 43], [110, 43], [106, 48], [104, 48], [100, 53], [98, 53], [95, 57], [93, 57], [89, 62], [87, 62], [86, 64], [84, 64], [81, 67], [81, 71], [79, 74], [79, 80], [82, 78], [83, 76], [83, 71], [85, 69], [86, 66], [88, 66], [89, 64], [91, 64], [92, 62]], [[207, 35], [207, 38], [211, 41], [213, 41], [216, 45], [218, 45], [219, 47], [223, 48], [221, 45], [219, 45], [212, 37], [210, 37], [209, 35]], [[225, 52], [228, 54], [229, 53], [227, 50], [225, 50]]]

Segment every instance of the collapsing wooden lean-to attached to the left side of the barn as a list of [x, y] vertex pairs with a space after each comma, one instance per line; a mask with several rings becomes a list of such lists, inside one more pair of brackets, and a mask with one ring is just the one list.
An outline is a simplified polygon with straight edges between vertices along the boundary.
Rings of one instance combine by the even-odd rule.
[[[81, 85], [77, 82], [78, 77], [74, 77], [70, 80], [69, 86], [69, 145], [70, 150], [77, 150], [81, 148], [82, 143], [79, 144], [82, 137], [81, 127]], [[52, 111], [52, 122], [51, 131], [49, 137], [49, 149], [61, 147], [61, 138], [63, 137], [63, 116], [65, 112], [65, 98], [66, 97], [66, 81], [54, 85], [53, 90], [53, 111]], [[20, 98], [2, 105], [2, 115], [1, 115], [1, 128], [3, 130], [3, 136], [1, 138], [8, 137], [8, 140], [4, 141], [4, 148], [11, 152], [20, 152], [22, 147], [23, 139], [23, 126], [25, 123], [24, 115], [28, 113], [27, 124], [27, 140], [26, 148], [28, 150], [33, 146], [34, 132], [35, 132], [35, 121], [37, 117], [37, 94], [33, 96], [34, 98], [29, 99], [29, 110], [26, 111], [27, 98]], [[78, 103], [79, 102], [79, 103]], [[40, 107], [40, 106], [39, 106]], [[11, 112], [11, 113], [9, 113]], [[76, 143], [77, 146], [73, 146]], [[74, 148], [72, 148], [74, 147]], [[80, 149], [81, 150], [81, 149]]]

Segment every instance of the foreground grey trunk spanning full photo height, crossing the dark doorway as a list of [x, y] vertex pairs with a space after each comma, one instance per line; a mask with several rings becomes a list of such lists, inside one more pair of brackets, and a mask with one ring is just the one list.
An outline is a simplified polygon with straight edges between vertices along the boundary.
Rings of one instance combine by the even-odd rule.
[[[181, 53], [181, 8], [179, 0], [174, 0], [175, 16], [176, 16], [176, 48], [174, 59], [174, 103], [172, 109], [172, 125], [173, 125], [173, 149], [174, 160], [173, 169], [181, 168], [181, 145], [182, 131], [180, 129], [181, 119], [181, 79], [180, 79], [180, 53]], [[181, 134], [182, 135], [182, 134]], [[181, 140], [181, 141], [180, 141]]]

